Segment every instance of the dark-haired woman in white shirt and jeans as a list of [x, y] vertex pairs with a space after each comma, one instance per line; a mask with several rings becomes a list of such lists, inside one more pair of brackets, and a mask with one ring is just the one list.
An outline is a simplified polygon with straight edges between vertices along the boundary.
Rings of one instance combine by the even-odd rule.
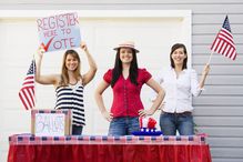
[[188, 68], [188, 52], [182, 43], [175, 43], [170, 53], [171, 67], [158, 75], [158, 82], [165, 90], [162, 103], [160, 126], [164, 135], [194, 134], [192, 117], [192, 95], [199, 97], [203, 90], [210, 65], [202, 71], [202, 78], [198, 81], [195, 70]]

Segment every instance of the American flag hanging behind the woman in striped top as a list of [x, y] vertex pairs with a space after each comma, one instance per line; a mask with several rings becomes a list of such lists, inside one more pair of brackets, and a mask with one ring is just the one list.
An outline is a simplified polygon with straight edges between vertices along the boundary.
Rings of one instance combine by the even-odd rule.
[[32, 60], [31, 65], [27, 72], [27, 77], [23, 81], [22, 88], [20, 89], [19, 97], [23, 103], [26, 110], [34, 107], [34, 74], [36, 74], [36, 62]]

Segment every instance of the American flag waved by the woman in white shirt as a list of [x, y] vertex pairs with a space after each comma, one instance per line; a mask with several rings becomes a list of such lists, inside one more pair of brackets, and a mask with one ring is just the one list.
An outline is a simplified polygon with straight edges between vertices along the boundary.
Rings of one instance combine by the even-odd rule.
[[227, 16], [224, 20], [222, 29], [217, 33], [211, 47], [211, 50], [232, 60], [235, 60], [237, 55]]

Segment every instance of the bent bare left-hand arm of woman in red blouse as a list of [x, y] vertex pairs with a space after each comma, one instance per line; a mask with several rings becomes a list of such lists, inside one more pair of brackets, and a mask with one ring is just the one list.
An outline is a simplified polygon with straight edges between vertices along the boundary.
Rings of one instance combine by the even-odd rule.
[[111, 121], [113, 118], [113, 114], [108, 112], [107, 108], [104, 107], [103, 97], [102, 97], [102, 93], [108, 87], [109, 87], [109, 83], [102, 80], [102, 82], [99, 84], [99, 87], [97, 88], [94, 92], [94, 98], [95, 98], [97, 104], [103, 118], [108, 121]]

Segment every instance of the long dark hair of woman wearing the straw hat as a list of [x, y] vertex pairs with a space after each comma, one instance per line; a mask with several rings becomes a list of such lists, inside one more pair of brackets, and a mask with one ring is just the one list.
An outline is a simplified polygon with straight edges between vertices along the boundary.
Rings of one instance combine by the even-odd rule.
[[[129, 78], [131, 80], [131, 82], [135, 85], [138, 85], [138, 61], [136, 61], [136, 53], [135, 50], [132, 49], [132, 62], [129, 69]], [[122, 74], [122, 62], [120, 59], [120, 49], [118, 49], [117, 55], [115, 55], [115, 62], [114, 62], [114, 69], [112, 71], [112, 80], [111, 80], [111, 87], [113, 88], [115, 82], [118, 81], [119, 77]]]

